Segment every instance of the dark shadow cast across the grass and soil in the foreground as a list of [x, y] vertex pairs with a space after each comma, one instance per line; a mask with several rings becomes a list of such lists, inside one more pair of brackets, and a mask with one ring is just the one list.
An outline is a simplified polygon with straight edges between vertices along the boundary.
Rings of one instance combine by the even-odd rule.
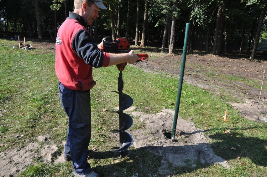
[[[191, 134], [194, 133], [199, 132], [192, 132]], [[227, 134], [215, 133], [210, 135], [209, 138], [216, 140], [216, 142], [187, 146], [146, 146], [130, 150], [131, 154], [128, 157], [115, 160], [114, 164], [96, 166], [93, 170], [97, 171], [101, 176], [114, 177], [134, 176], [136, 175], [134, 173], [138, 173], [138, 176], [148, 176], [148, 174], [152, 176], [166, 176], [167, 174], [180, 175], [191, 172], [196, 173], [194, 171], [209, 167], [216, 162], [223, 163], [225, 162], [224, 160], [238, 160], [238, 158], [240, 158], [239, 162], [243, 158], [249, 158], [257, 166], [267, 166], [266, 139], [246, 137], [243, 134], [235, 132]], [[209, 153], [207, 149], [205, 150], [205, 148], [209, 147], [213, 149], [214, 154], [212, 152]], [[165, 155], [165, 158], [154, 153]], [[103, 159], [115, 159], [118, 157], [118, 153], [112, 153], [110, 151], [91, 151], [89, 155], [90, 159], [98, 161], [97, 164], [101, 164]], [[188, 159], [181, 158], [182, 156], [188, 157]], [[166, 161], [166, 158], [172, 161]], [[239, 165], [242, 166], [243, 164]], [[240, 170], [241, 168], [243, 167], [240, 167]], [[228, 171], [228, 173], [231, 174], [234, 172]], [[244, 173], [250, 174], [253, 172], [248, 169]], [[258, 172], [256, 171], [255, 173]]]

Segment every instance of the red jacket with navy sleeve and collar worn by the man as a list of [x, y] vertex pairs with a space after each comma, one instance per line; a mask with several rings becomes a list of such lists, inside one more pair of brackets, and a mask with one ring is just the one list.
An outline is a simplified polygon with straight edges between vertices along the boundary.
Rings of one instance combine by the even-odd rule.
[[96, 82], [92, 67], [108, 66], [110, 55], [103, 53], [84, 27], [86, 21], [71, 13], [60, 26], [56, 39], [55, 72], [68, 89], [89, 90]]

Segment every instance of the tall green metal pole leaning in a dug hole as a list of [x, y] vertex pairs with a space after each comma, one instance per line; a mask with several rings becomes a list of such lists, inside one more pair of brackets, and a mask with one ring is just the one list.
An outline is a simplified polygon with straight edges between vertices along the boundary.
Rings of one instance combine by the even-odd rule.
[[177, 92], [175, 114], [174, 114], [174, 119], [173, 119], [173, 127], [171, 131], [171, 139], [175, 138], [175, 132], [176, 132], [176, 125], [177, 125], [179, 106], [180, 106], [180, 100], [181, 100], [181, 92], [182, 92], [183, 79], [184, 79], [184, 72], [185, 72], [185, 65], [186, 65], [186, 51], [187, 51], [189, 29], [190, 29], [190, 23], [186, 23], [183, 57], [182, 57], [182, 64], [181, 64], [181, 70], [180, 70], [179, 86], [178, 86], [178, 92]]

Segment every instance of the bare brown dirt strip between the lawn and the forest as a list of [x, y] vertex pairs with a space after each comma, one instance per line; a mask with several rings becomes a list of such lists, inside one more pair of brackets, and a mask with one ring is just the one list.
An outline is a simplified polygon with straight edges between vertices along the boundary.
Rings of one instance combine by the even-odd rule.
[[[153, 55], [159, 55], [155, 53]], [[262, 90], [257, 109], [260, 89], [231, 80], [231, 76], [240, 76], [244, 79], [258, 80], [261, 86], [264, 68], [267, 67], [267, 52], [259, 52], [262, 60], [248, 60], [236, 55], [214, 56], [204, 53], [193, 53], [186, 56], [184, 82], [212, 91], [215, 94], [233, 97], [240, 103], [231, 103], [235, 109], [247, 119], [267, 122], [266, 104], [267, 90]], [[248, 53], [240, 57], [249, 58]], [[182, 55], [166, 55], [159, 58], [149, 58], [135, 66], [146, 72], [165, 72], [179, 77]], [[177, 63], [179, 62], [179, 63]], [[267, 71], [266, 71], [267, 72]], [[264, 85], [266, 85], [265, 74]]]

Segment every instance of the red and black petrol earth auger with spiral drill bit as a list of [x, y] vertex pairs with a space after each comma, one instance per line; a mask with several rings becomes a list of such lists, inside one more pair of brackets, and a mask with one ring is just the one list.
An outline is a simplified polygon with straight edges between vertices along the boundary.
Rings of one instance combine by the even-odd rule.
[[[130, 44], [128, 43], [127, 39], [116, 39], [114, 42], [107, 42], [106, 38], [103, 38], [103, 46], [104, 52], [108, 53], [125, 53], [129, 52]], [[145, 60], [148, 58], [147, 54], [136, 54], [140, 58], [139, 61]], [[119, 153], [119, 158], [126, 157], [130, 154], [130, 151], [128, 148], [133, 144], [133, 137], [126, 132], [127, 129], [129, 129], [133, 125], [133, 118], [123, 113], [123, 110], [128, 109], [132, 106], [134, 103], [134, 100], [132, 97], [130, 97], [127, 94], [123, 93], [123, 69], [127, 63], [121, 63], [117, 65], [117, 68], [119, 70], [119, 77], [118, 77], [118, 92], [115, 92], [119, 95], [119, 109], [114, 111], [109, 111], [111, 113], [118, 113], [119, 114], [119, 129], [113, 129], [110, 130], [111, 133], [119, 133], [119, 141], [120, 146], [119, 147], [113, 147], [110, 149], [110, 151], [114, 153]]]

